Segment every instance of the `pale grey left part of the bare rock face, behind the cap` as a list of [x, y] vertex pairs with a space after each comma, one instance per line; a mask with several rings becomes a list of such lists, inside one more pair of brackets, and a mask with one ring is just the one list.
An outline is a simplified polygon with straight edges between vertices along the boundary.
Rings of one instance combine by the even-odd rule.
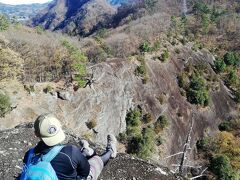
[[[35, 84], [35, 92], [30, 95], [23, 90], [22, 85], [2, 85], [9, 89], [12, 104], [17, 108], [1, 119], [1, 129], [33, 121], [41, 113], [52, 112], [76, 134], [90, 134], [90, 138], [104, 142], [107, 133], [117, 135], [126, 128], [126, 112], [133, 106], [132, 85], [137, 81], [133, 74], [134, 68], [134, 64], [121, 60], [93, 66], [94, 83], [76, 92], [72, 87], [57, 90], [65, 96], [63, 98], [58, 98], [55, 92], [44, 93], [47, 84]], [[17, 94], [13, 95], [11, 91], [17, 91]], [[96, 121], [95, 133], [86, 126], [89, 121]]]

